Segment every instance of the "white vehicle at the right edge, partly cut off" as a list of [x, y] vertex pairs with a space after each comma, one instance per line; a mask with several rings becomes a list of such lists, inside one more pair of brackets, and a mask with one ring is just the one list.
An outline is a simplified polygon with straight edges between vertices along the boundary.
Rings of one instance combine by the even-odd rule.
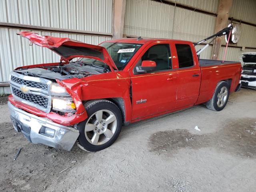
[[256, 89], [256, 52], [248, 52], [240, 55], [242, 64], [242, 87]]

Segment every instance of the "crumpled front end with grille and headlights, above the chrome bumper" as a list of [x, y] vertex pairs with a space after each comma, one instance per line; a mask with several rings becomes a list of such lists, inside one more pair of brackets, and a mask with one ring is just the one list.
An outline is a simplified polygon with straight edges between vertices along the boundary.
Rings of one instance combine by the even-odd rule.
[[76, 90], [67, 92], [66, 87], [50, 80], [17, 72], [10, 75], [10, 88], [12, 95], [9, 101], [36, 116], [46, 117], [64, 126], [72, 126], [87, 118]]

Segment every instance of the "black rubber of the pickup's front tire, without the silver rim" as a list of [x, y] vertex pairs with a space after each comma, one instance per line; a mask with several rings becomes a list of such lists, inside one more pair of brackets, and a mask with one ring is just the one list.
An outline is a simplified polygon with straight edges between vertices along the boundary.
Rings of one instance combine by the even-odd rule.
[[[90, 152], [96, 152], [103, 150], [105, 148], [108, 148], [110, 145], [112, 145], [115, 140], [118, 138], [118, 135], [120, 134], [121, 128], [122, 128], [122, 114], [113, 102], [110, 102], [109, 100], [92, 100], [90, 102], [87, 102], [85, 104], [86, 112], [88, 114], [88, 118], [82, 122], [80, 122], [77, 127], [79, 130], [79, 137], [78, 137], [78, 142], [79, 144], [84, 147], [85, 150], [90, 151]], [[116, 116], [116, 131], [114, 132], [114, 135], [110, 140], [108, 140], [106, 143], [101, 144], [101, 145], [94, 145], [91, 144], [85, 136], [85, 125], [86, 122], [89, 120], [89, 118], [96, 113], [99, 110], [109, 110], [111, 111], [115, 116]]]

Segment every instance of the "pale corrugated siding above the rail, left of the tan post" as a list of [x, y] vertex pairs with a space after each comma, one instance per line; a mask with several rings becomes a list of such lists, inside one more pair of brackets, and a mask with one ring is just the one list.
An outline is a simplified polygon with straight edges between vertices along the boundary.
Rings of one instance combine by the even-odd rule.
[[0, 22], [112, 32], [112, 0], [0, 0]]

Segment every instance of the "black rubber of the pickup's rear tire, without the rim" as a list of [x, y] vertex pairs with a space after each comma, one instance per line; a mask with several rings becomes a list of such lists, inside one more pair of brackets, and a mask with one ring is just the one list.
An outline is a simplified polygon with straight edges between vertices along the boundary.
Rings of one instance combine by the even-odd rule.
[[[226, 98], [226, 101], [224, 102], [224, 105], [219, 107], [217, 105], [217, 101], [218, 101], [218, 93], [220, 92], [221, 88], [223, 87], [226, 87], [227, 88], [227, 92], [228, 92], [228, 95], [227, 95], [227, 98]], [[229, 84], [226, 82], [226, 81], [220, 81], [217, 86], [216, 86], [216, 89], [214, 91], [214, 94], [212, 96], [212, 99], [209, 100], [208, 102], [206, 102], [206, 107], [210, 110], [213, 110], [213, 111], [221, 111], [227, 104], [228, 102], [228, 97], [229, 97]]]

